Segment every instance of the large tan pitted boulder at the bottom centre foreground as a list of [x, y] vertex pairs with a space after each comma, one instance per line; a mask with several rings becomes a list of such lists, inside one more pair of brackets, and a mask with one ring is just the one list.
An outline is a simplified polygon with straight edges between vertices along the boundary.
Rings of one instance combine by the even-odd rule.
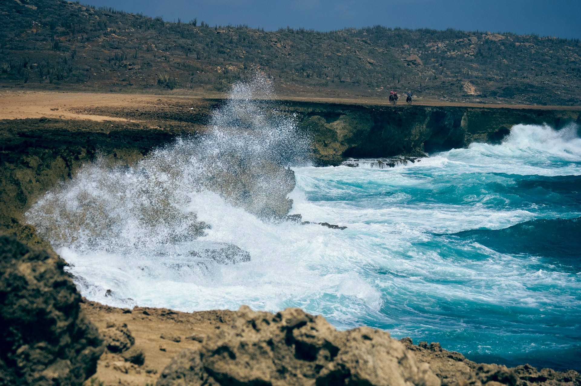
[[237, 315], [231, 329], [175, 356], [157, 386], [440, 386], [428, 365], [389, 333], [336, 331], [322, 316], [296, 308], [272, 314], [242, 306]]

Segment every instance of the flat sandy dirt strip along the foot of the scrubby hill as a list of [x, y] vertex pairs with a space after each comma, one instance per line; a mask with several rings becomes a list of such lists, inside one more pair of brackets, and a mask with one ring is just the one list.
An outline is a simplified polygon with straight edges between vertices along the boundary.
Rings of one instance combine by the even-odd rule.
[[[23, 118], [60, 118], [67, 120], [91, 121], [132, 121], [119, 116], [102, 115], [103, 107], [139, 109], [145, 104], [163, 103], [170, 99], [180, 99], [193, 106], [204, 98], [201, 96], [175, 95], [135, 95], [119, 93], [88, 93], [88, 92], [44, 92], [44, 91], [4, 91], [0, 92], [0, 120]], [[299, 102], [340, 103], [340, 104], [373, 104], [388, 105], [386, 98], [382, 99], [339, 99], [339, 98], [310, 98], [285, 97], [280, 100]], [[399, 105], [405, 105], [405, 101]], [[442, 100], [415, 99], [414, 104], [419, 106], [467, 106], [493, 107], [505, 109], [537, 109], [537, 110], [581, 110], [581, 106], [530, 106], [519, 104], [483, 104], [457, 103]], [[97, 111], [92, 111], [97, 110]]]

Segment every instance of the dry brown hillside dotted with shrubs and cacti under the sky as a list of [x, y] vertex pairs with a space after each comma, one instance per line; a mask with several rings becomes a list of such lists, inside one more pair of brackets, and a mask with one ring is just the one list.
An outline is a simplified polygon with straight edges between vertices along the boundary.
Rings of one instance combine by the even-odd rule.
[[510, 33], [263, 31], [61, 0], [0, 3], [0, 85], [213, 95], [261, 70], [284, 96], [576, 105], [581, 44]]

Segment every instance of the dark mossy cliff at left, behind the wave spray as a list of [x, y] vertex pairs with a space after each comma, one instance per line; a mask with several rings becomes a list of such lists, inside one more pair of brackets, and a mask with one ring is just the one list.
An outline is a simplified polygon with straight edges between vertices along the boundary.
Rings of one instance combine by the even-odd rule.
[[0, 233], [51, 250], [32, 226], [22, 223], [24, 211], [35, 200], [100, 154], [112, 165], [127, 165], [188, 132], [116, 122], [0, 121]]

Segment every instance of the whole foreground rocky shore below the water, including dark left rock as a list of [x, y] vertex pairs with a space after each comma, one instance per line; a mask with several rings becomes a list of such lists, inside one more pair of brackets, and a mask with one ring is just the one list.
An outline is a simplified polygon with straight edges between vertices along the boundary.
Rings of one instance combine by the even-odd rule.
[[1, 385], [581, 384], [573, 370], [475, 363], [369, 327], [336, 331], [297, 308], [114, 308], [81, 298], [52, 254], [0, 236], [0, 255]]

